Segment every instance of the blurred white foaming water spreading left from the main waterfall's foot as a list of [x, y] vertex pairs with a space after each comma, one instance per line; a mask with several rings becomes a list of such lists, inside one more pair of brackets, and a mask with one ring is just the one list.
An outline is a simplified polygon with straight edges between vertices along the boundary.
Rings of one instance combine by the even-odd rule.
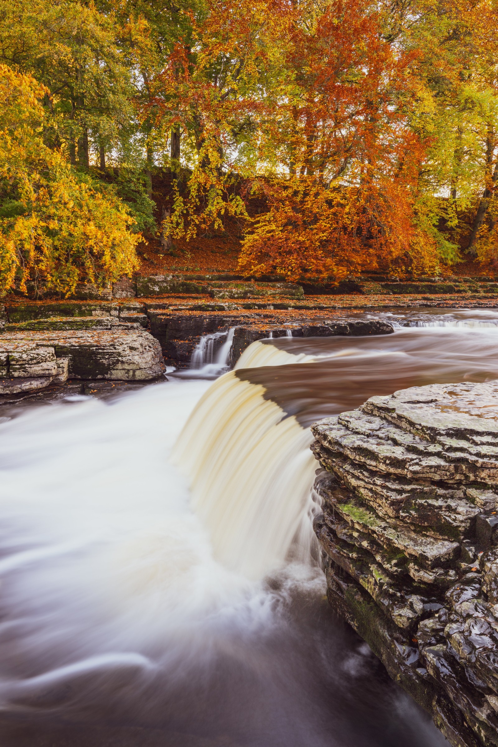
[[88, 670], [176, 676], [226, 625], [267, 624], [271, 595], [214, 560], [168, 462], [207, 386], [168, 382], [0, 425], [0, 703]]

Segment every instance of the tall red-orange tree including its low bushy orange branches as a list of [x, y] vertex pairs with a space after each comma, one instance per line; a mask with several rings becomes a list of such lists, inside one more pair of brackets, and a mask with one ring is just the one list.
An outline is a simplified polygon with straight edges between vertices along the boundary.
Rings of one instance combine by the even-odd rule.
[[290, 176], [255, 182], [268, 212], [243, 243], [240, 269], [340, 278], [390, 267], [434, 270], [435, 246], [414, 220], [423, 143], [406, 116], [409, 63], [385, 42], [363, 0], [334, 0], [312, 30], [287, 18], [293, 83], [266, 124]]

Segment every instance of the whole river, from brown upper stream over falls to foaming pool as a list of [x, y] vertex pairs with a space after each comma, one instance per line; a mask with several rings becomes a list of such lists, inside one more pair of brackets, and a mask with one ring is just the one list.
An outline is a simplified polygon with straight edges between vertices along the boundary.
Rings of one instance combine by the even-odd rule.
[[309, 425], [498, 378], [498, 313], [372, 316], [394, 334], [0, 412], [2, 747], [446, 744], [329, 610]]

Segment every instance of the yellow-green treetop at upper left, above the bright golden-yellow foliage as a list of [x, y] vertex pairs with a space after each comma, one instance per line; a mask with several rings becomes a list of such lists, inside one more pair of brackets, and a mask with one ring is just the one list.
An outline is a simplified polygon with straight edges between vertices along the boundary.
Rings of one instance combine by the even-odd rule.
[[0, 0], [0, 61], [46, 86], [72, 164], [105, 167], [126, 140], [133, 88], [114, 36], [113, 15], [72, 0]]

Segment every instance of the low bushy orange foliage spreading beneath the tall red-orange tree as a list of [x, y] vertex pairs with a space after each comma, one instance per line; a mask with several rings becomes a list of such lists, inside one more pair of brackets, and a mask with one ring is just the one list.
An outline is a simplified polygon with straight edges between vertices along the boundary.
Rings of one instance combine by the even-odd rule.
[[414, 227], [403, 184], [364, 179], [331, 188], [302, 176], [258, 187], [269, 209], [243, 242], [239, 268], [247, 275], [341, 279], [379, 267], [435, 269], [433, 247]]

